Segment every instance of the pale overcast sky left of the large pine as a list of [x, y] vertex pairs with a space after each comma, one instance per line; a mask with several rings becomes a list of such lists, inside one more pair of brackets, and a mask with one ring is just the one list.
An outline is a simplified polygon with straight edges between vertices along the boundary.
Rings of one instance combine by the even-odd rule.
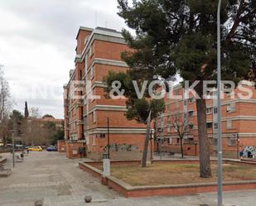
[[63, 84], [74, 68], [79, 26], [121, 31], [117, 0], [0, 0], [0, 65], [13, 108], [40, 108], [63, 118]]

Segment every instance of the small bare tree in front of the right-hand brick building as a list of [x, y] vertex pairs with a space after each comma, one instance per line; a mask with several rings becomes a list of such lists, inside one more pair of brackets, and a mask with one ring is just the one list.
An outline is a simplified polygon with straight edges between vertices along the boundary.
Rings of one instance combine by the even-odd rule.
[[177, 135], [180, 139], [180, 146], [181, 146], [181, 158], [184, 158], [184, 151], [183, 151], [183, 140], [184, 137], [189, 135], [191, 130], [191, 123], [188, 121], [188, 117], [186, 117], [186, 113], [174, 113], [171, 115], [171, 128], [173, 129], [172, 133]]

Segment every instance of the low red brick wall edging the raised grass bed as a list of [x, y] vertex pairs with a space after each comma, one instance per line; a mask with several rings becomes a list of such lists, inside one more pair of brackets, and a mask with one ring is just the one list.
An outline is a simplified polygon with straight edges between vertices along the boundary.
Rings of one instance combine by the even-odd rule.
[[[196, 164], [198, 160], [154, 160], [155, 162], [175, 162], [183, 164]], [[215, 160], [213, 160], [215, 161]], [[111, 165], [129, 165], [137, 164], [140, 161], [130, 160], [130, 161], [113, 161]], [[224, 160], [224, 163], [232, 164], [247, 164], [246, 162], [239, 162], [233, 160]], [[197, 193], [207, 193], [216, 192], [216, 183], [202, 183], [202, 184], [171, 184], [171, 185], [147, 185], [147, 186], [132, 186], [123, 182], [123, 180], [118, 180], [114, 176], [104, 177], [103, 172], [94, 166], [102, 164], [102, 162], [85, 162], [79, 163], [79, 167], [85, 170], [89, 174], [98, 178], [103, 184], [108, 185], [118, 193], [123, 194], [126, 198], [139, 198], [139, 197], [152, 197], [152, 196], [173, 196], [173, 195], [186, 195], [186, 194], [197, 194]], [[254, 164], [254, 162], [253, 162]], [[249, 164], [252, 165], [252, 164]], [[256, 180], [248, 181], [234, 181], [225, 182], [223, 184], [223, 189], [225, 191], [234, 190], [246, 190], [246, 189], [256, 189]]]

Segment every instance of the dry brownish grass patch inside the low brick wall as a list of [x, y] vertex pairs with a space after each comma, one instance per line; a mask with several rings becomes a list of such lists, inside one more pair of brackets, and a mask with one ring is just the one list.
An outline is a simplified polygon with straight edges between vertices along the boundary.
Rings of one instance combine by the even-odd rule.
[[[98, 167], [102, 170], [102, 166]], [[112, 165], [111, 175], [133, 186], [159, 184], [196, 184], [217, 181], [217, 165], [212, 164], [212, 177], [199, 177], [198, 164], [154, 163], [141, 165]], [[223, 165], [225, 181], [256, 180], [254, 165]]]

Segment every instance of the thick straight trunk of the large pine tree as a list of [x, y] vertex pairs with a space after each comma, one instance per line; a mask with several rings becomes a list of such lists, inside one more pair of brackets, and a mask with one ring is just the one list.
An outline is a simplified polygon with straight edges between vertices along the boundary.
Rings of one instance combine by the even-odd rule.
[[199, 161], [200, 161], [200, 177], [210, 178], [210, 151], [209, 141], [206, 129], [206, 103], [203, 97], [203, 82], [196, 87], [196, 93], [200, 99], [196, 99], [197, 109], [197, 124], [198, 124], [198, 138], [199, 138]]

